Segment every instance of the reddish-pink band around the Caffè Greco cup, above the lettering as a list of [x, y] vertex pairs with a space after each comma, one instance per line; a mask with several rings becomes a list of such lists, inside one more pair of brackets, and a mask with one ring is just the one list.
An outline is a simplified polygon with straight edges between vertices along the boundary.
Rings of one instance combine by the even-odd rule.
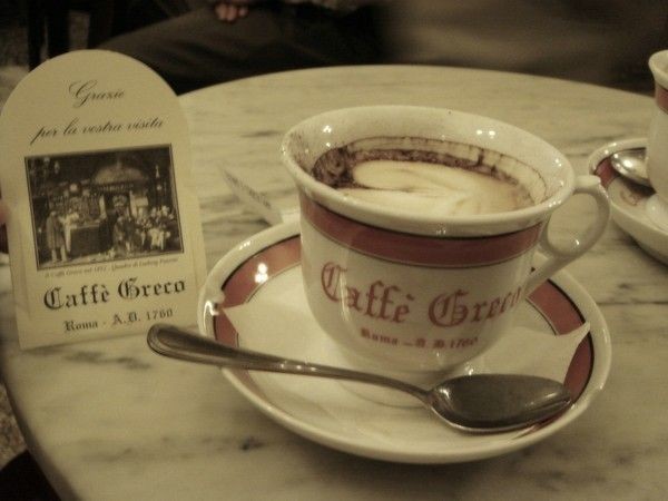
[[328, 238], [362, 254], [434, 267], [485, 266], [520, 256], [538, 242], [542, 224], [503, 235], [432, 237], [370, 226], [341, 216], [301, 194], [302, 217]]

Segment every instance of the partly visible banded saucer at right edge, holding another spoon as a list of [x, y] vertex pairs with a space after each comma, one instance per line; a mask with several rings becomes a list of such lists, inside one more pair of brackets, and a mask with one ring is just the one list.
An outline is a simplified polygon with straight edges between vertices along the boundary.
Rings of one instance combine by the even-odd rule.
[[600, 177], [603, 187], [608, 190], [612, 220], [647, 254], [668, 264], [668, 232], [661, 230], [647, 214], [647, 204], [654, 190], [621, 177], [610, 164], [610, 157], [615, 153], [646, 146], [646, 138], [610, 143], [591, 154], [588, 160], [589, 171]]

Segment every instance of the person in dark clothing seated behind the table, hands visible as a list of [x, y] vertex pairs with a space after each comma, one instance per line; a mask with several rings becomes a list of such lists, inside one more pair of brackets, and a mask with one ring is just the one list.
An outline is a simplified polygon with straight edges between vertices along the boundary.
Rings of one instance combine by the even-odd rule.
[[372, 0], [135, 0], [158, 22], [99, 48], [145, 62], [177, 92], [254, 75], [380, 62]]

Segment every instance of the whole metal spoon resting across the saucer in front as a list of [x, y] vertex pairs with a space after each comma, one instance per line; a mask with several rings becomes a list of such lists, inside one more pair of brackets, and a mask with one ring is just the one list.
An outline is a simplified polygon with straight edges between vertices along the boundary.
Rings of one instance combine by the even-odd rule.
[[410, 393], [450, 425], [469, 432], [502, 432], [524, 428], [556, 415], [571, 403], [566, 386], [544, 377], [477, 374], [454, 377], [431, 390], [422, 390], [376, 374], [226, 346], [174, 325], [154, 325], [148, 331], [147, 341], [156, 353], [189, 362], [333, 377], [392, 387]]

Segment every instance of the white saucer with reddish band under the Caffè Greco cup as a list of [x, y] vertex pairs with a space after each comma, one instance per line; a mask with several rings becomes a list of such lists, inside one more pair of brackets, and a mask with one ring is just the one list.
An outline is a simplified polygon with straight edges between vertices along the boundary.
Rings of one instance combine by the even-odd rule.
[[[227, 344], [338, 365], [336, 350], [305, 304], [299, 266], [295, 223], [272, 227], [243, 242], [216, 264], [207, 278], [200, 295], [200, 332]], [[266, 331], [237, 333], [223, 308], [259, 304], [263, 295], [279, 301], [285, 314], [297, 318], [293, 328], [281, 335], [267, 335]], [[531, 303], [524, 303], [518, 313], [520, 325], [550, 336], [568, 333], [584, 322], [591, 326], [570, 362], [566, 361], [569, 369], [564, 383], [578, 395], [573, 405], [551, 422], [520, 432], [461, 433], [424, 409], [373, 403], [332, 380], [243, 370], [224, 373], [266, 415], [333, 449], [406, 463], [489, 458], [533, 444], [572, 422], [602, 390], [610, 367], [606, 322], [591, 297], [567, 274], [559, 273], [553, 283], [539, 287]]]

